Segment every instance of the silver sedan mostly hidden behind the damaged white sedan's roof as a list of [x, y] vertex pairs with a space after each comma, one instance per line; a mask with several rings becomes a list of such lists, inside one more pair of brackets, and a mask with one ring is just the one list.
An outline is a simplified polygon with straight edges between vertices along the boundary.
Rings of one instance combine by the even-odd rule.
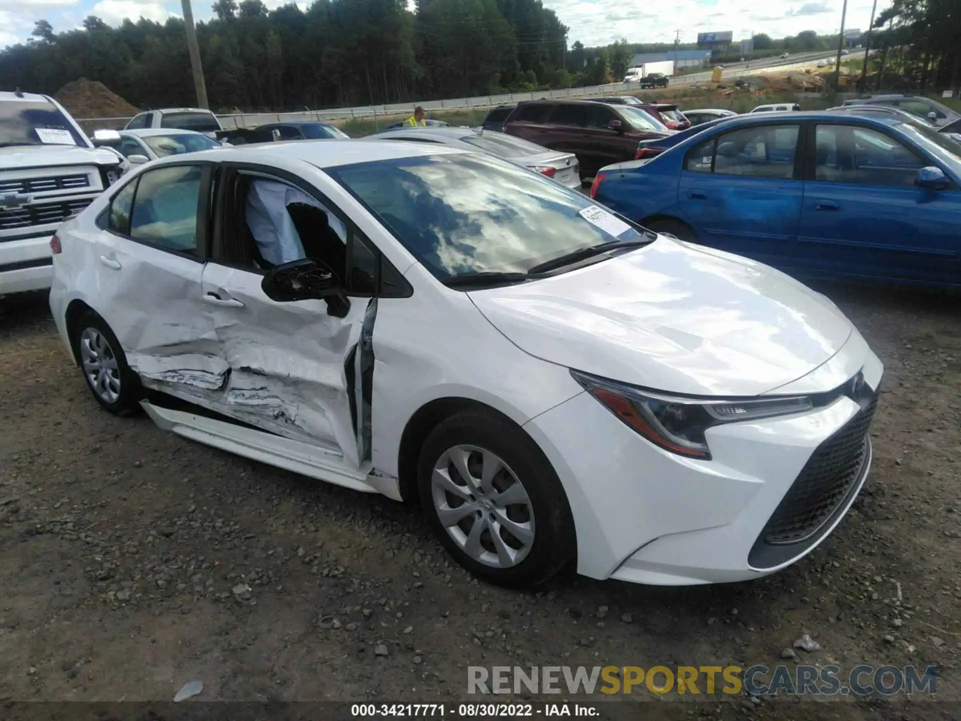
[[477, 131], [473, 128], [402, 128], [386, 130], [372, 139], [435, 142], [465, 150], [482, 150], [505, 160], [525, 165], [541, 175], [554, 178], [563, 186], [580, 188], [580, 165], [573, 153], [564, 153], [536, 145], [520, 137], [503, 133]]

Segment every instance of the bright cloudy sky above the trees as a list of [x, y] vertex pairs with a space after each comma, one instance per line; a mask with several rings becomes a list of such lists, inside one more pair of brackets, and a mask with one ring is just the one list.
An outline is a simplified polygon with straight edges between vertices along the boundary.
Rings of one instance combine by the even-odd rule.
[[[836, 32], [841, 21], [842, 0], [785, 2], [771, 0], [672, 0], [649, 6], [624, 0], [543, 0], [561, 22], [570, 27], [570, 41], [585, 45], [612, 42], [627, 37], [633, 42], [670, 42], [680, 30], [682, 42], [694, 41], [698, 33], [731, 31], [735, 39], [752, 33], [771, 37], [797, 35], [801, 30]], [[284, 0], [265, 0], [275, 8]], [[209, 18], [212, 0], [193, 0], [194, 17]], [[299, 4], [304, 4], [303, 0]], [[878, 0], [877, 12], [890, 0]], [[0, 47], [30, 36], [34, 21], [44, 18], [56, 31], [80, 26], [86, 15], [94, 14], [111, 25], [124, 17], [163, 20], [180, 15], [179, 0], [0, 0]], [[850, 0], [847, 27], [866, 30], [871, 17], [871, 0]]]

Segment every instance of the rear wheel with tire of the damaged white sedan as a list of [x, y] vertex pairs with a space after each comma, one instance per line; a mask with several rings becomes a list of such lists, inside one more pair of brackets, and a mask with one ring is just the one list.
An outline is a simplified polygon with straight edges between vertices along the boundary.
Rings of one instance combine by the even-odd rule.
[[87, 311], [74, 327], [73, 337], [84, 380], [97, 403], [114, 415], [138, 410], [143, 396], [140, 379], [107, 322]]

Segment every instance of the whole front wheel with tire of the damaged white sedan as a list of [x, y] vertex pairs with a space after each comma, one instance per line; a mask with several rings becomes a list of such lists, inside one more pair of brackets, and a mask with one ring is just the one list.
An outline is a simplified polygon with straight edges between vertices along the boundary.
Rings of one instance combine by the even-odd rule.
[[576, 554], [564, 489], [537, 445], [494, 413], [438, 425], [418, 462], [421, 503], [460, 565], [492, 584], [543, 583]]

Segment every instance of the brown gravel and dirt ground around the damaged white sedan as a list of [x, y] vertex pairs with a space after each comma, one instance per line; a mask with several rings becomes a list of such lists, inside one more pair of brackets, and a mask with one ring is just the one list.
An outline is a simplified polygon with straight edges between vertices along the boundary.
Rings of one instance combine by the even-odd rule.
[[[66, 360], [45, 297], [0, 301], [0, 701], [170, 701], [201, 681], [198, 700], [425, 702], [465, 699], [468, 665], [778, 662], [932, 664], [939, 696], [961, 699], [958, 299], [821, 289], [886, 365], [872, 476], [838, 531], [757, 582], [568, 577], [538, 593], [472, 580], [415, 508], [112, 417]], [[821, 649], [781, 661], [804, 633]], [[961, 706], [631, 708], [913, 719]]]

